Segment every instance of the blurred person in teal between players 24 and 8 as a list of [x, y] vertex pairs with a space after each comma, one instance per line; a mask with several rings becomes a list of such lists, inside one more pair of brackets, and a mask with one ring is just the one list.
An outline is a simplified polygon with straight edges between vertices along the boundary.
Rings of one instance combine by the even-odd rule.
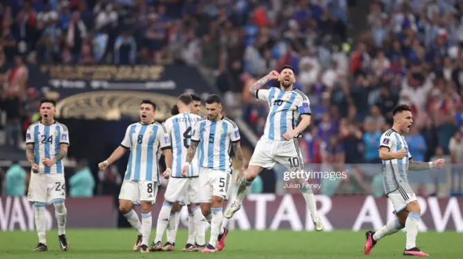
[[88, 168], [88, 162], [81, 160], [77, 164], [77, 170], [69, 179], [69, 195], [70, 197], [92, 197], [93, 189], [95, 189], [95, 180], [92, 172]]

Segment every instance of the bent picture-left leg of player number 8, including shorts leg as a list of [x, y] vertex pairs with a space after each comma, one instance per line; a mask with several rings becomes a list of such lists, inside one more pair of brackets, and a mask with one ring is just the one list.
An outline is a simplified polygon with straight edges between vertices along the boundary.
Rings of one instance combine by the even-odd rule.
[[130, 180], [124, 180], [119, 193], [119, 211], [124, 215], [124, 218], [137, 231], [137, 239], [133, 245], [133, 251], [140, 250], [142, 245], [142, 223], [138, 218], [138, 214], [133, 209], [133, 202], [137, 200], [138, 184]]

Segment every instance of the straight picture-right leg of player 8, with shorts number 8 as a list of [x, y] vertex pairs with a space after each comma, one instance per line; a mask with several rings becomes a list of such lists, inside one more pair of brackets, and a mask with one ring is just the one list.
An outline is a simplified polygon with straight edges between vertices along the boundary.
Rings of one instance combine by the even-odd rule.
[[152, 206], [158, 195], [158, 183], [152, 181], [138, 182], [140, 189], [140, 204], [142, 207], [142, 245], [140, 251], [148, 253], [149, 236], [153, 227], [153, 217], [151, 216]]

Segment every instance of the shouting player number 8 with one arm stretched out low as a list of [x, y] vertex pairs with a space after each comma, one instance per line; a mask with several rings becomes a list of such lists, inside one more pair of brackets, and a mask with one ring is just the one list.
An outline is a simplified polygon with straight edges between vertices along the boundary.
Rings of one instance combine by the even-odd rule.
[[[124, 140], [120, 146], [98, 164], [101, 170], [117, 161], [130, 149], [129, 164], [125, 172], [124, 182], [119, 194], [119, 210], [138, 231], [133, 251], [148, 253], [148, 241], [151, 233], [151, 206], [154, 204], [160, 184], [159, 159], [164, 153], [167, 166], [172, 163], [171, 141], [165, 128], [154, 121], [156, 105], [150, 100], [143, 100], [140, 105], [140, 122], [127, 127]], [[167, 167], [164, 177], [168, 177], [171, 169]], [[133, 210], [133, 204], [140, 202], [142, 222]]]

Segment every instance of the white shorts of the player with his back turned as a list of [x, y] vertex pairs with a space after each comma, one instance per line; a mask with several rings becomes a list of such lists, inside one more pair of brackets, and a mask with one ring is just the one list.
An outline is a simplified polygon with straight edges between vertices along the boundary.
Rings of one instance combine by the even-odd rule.
[[168, 202], [179, 202], [182, 205], [199, 203], [201, 188], [197, 178], [170, 178], [167, 184], [164, 199]]

